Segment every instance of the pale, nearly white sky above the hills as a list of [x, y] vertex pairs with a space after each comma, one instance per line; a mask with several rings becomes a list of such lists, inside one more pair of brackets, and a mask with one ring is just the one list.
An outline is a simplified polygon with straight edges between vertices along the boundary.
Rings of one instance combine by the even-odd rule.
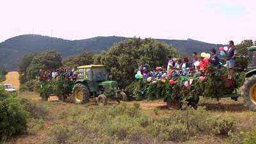
[[0, 0], [0, 42], [38, 34], [240, 43], [256, 40], [255, 15], [253, 0]]

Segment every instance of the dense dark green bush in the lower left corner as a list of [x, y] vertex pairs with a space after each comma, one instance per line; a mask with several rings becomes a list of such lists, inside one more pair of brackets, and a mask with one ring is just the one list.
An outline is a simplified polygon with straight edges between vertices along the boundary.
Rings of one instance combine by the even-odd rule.
[[28, 112], [18, 97], [0, 90], [0, 141], [22, 134], [27, 127]]

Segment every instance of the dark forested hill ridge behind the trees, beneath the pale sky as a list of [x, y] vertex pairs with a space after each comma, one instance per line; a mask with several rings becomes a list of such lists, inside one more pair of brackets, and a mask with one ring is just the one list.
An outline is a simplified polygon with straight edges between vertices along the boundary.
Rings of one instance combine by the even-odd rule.
[[[17, 69], [17, 64], [24, 54], [29, 52], [40, 52], [52, 49], [59, 52], [63, 58], [80, 54], [82, 51], [91, 51], [97, 53], [106, 51], [116, 42], [125, 40], [120, 36], [97, 36], [84, 40], [64, 40], [61, 38], [52, 38], [42, 35], [20, 35], [10, 38], [0, 43], [0, 67], [6, 67], [8, 70]], [[164, 40], [157, 39], [160, 42], [172, 45], [179, 52], [188, 54], [193, 51], [209, 51], [212, 47], [218, 48], [220, 45], [207, 44], [196, 40]]]

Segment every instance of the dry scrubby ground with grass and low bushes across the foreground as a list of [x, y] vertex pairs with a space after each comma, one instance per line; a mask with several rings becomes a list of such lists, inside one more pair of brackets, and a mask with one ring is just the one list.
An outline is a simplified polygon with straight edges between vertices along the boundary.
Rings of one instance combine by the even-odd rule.
[[101, 107], [44, 102], [31, 92], [20, 96], [33, 103], [28, 135], [21, 138], [26, 143], [249, 144], [256, 137], [256, 114], [241, 99], [202, 99], [197, 110], [169, 110], [149, 106], [154, 101]]

